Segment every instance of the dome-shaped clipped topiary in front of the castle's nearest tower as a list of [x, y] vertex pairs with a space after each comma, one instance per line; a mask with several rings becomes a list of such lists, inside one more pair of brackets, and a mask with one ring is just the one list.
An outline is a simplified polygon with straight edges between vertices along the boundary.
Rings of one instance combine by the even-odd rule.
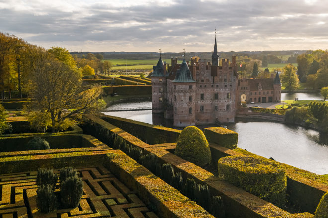
[[177, 140], [175, 154], [199, 166], [211, 162], [207, 139], [196, 126], [188, 126], [182, 130]]

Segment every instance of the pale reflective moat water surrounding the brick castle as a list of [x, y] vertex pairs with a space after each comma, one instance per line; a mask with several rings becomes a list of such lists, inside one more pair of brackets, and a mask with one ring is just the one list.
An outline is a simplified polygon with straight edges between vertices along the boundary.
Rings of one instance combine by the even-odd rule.
[[[283, 93], [281, 98], [289, 100]], [[307, 93], [296, 93], [307, 94]], [[305, 97], [311, 99], [304, 99]], [[319, 96], [304, 95], [299, 100], [322, 100]], [[294, 100], [297, 97], [292, 97]], [[118, 103], [109, 108], [150, 107], [152, 102]], [[173, 128], [172, 121], [152, 114], [151, 110], [105, 112], [107, 115], [132, 119]], [[208, 126], [198, 126], [203, 129]], [[227, 126], [238, 133], [238, 147], [266, 158], [286, 163], [317, 174], [328, 174], [328, 137], [317, 131], [275, 122], [236, 120]]]

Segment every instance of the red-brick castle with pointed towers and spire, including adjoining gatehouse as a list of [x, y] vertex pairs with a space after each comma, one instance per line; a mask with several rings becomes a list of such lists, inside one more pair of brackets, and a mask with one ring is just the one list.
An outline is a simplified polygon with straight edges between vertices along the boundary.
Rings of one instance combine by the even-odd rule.
[[[160, 55], [151, 75], [152, 112], [163, 113], [165, 119], [173, 119], [173, 125], [176, 127], [233, 123], [236, 107], [244, 102], [249, 103], [252, 98], [254, 102], [261, 101], [261, 93], [259, 92], [258, 96], [257, 92], [246, 92], [251, 90], [248, 87], [252, 82], [238, 81], [235, 56], [232, 57], [232, 62], [229, 62], [229, 59], [221, 61], [222, 64], [219, 65], [216, 37], [212, 62], [192, 57], [190, 62], [183, 59], [182, 63], [178, 64], [177, 58], [171, 58], [171, 66], [169, 66], [166, 62], [163, 63]], [[279, 78], [279, 75], [277, 76]], [[243, 89], [239, 89], [238, 84], [243, 85]], [[260, 86], [256, 89], [263, 89], [265, 84], [260, 82]], [[273, 87], [278, 88], [278, 86]], [[269, 95], [274, 90], [265, 91]], [[274, 93], [277, 94], [277, 91]], [[252, 94], [254, 97], [249, 97]], [[267, 97], [270, 101], [271, 98]], [[273, 99], [276, 98], [272, 97]]]

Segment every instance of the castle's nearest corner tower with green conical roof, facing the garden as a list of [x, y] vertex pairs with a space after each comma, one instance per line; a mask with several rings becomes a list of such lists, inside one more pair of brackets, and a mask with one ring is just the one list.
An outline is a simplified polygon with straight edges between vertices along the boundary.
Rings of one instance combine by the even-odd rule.
[[173, 80], [173, 125], [186, 127], [195, 125], [196, 81], [192, 78], [190, 69], [183, 59], [180, 69]]

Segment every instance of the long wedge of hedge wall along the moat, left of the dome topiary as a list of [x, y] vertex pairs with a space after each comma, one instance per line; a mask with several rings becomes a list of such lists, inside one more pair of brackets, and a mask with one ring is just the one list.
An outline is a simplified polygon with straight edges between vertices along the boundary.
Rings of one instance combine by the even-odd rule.
[[101, 118], [150, 145], [176, 142], [181, 132], [181, 130], [177, 129], [151, 125], [116, 116], [101, 115]]

